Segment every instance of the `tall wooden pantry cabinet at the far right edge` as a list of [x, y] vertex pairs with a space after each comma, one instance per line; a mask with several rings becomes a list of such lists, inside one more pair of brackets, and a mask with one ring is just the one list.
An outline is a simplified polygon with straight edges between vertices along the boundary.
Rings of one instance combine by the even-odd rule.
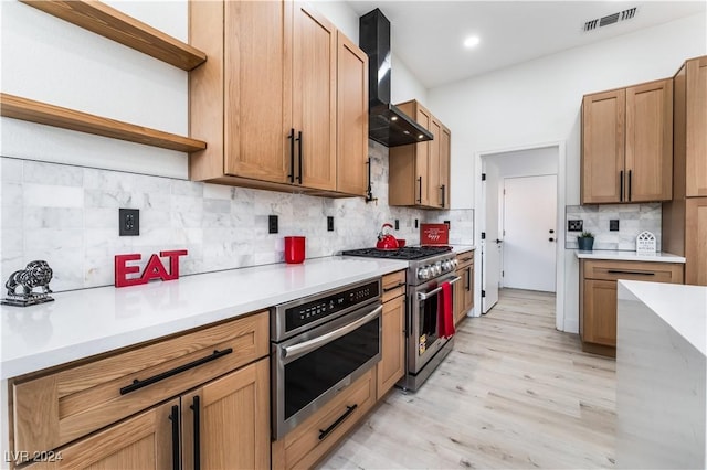
[[685, 256], [685, 284], [707, 286], [707, 56], [674, 77], [673, 201], [663, 203], [663, 249]]

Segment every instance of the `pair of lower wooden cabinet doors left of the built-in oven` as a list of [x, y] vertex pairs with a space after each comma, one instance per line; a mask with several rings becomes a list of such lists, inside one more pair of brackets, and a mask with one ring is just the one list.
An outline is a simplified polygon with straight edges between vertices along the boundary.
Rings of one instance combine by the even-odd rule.
[[[29, 469], [267, 469], [263, 359], [52, 452]], [[197, 451], [194, 451], [197, 449]]]

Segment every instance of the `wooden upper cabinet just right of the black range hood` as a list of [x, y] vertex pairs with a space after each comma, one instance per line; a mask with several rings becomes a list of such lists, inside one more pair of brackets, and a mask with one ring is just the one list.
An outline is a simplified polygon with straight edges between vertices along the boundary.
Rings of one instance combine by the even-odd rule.
[[450, 130], [416, 100], [395, 106], [432, 132], [434, 139], [390, 149], [390, 205], [449, 207]]

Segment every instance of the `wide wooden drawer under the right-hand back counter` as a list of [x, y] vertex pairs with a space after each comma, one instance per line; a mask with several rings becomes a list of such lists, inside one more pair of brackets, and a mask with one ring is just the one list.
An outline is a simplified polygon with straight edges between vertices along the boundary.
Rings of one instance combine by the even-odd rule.
[[678, 263], [584, 260], [584, 278], [601, 280], [644, 280], [683, 282], [683, 265]]

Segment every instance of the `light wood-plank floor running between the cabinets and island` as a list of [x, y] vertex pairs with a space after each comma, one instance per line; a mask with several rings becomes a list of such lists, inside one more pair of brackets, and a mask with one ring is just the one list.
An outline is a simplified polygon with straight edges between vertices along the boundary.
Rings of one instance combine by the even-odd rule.
[[393, 389], [320, 468], [614, 467], [615, 363], [555, 329], [555, 296], [503, 289], [416, 393]]

